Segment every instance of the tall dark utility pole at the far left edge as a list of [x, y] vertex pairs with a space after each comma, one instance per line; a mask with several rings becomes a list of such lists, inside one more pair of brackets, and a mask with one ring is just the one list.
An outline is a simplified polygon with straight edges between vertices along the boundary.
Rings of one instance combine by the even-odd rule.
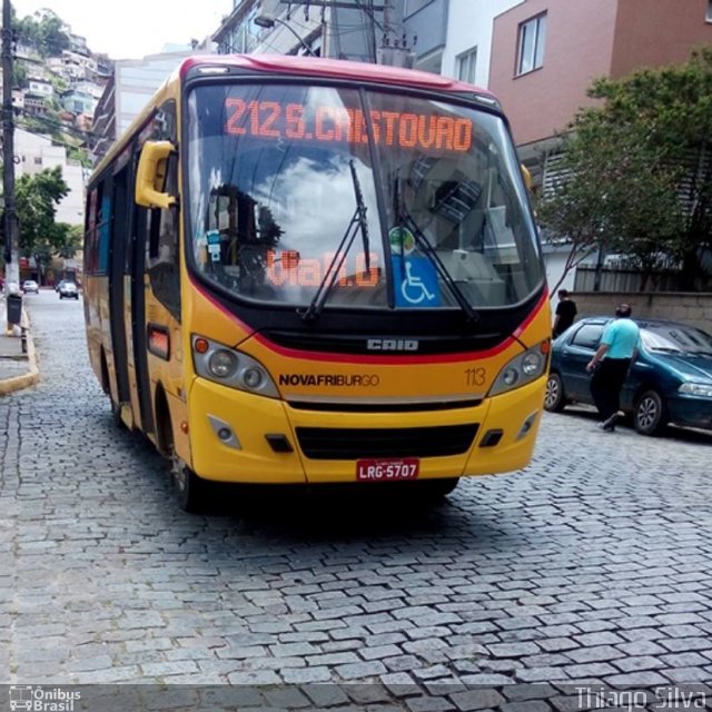
[[2, 191], [4, 197], [4, 289], [20, 284], [18, 218], [14, 207], [14, 123], [12, 112], [12, 6], [2, 0]]

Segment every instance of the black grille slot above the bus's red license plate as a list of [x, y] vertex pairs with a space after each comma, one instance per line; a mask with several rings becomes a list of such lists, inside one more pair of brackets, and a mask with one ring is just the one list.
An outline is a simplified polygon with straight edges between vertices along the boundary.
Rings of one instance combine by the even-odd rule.
[[403, 428], [297, 427], [301, 452], [310, 459], [445, 457], [466, 453], [478, 425]]

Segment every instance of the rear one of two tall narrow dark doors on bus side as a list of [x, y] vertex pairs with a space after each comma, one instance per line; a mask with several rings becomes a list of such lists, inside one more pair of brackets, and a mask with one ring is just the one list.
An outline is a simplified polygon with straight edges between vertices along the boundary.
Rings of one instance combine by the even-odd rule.
[[113, 215], [109, 241], [109, 323], [118, 404], [130, 402], [128, 352], [126, 344], [123, 268], [128, 238], [128, 169], [113, 176], [111, 190]]

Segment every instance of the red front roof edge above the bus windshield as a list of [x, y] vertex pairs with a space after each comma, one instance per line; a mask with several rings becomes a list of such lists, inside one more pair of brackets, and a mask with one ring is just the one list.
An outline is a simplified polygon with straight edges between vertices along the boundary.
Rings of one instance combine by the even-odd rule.
[[457, 79], [417, 69], [402, 69], [387, 65], [368, 65], [345, 59], [295, 57], [291, 55], [198, 55], [188, 57], [180, 66], [184, 77], [194, 67], [240, 67], [254, 71], [284, 72], [306, 77], [334, 77], [338, 79], [372, 80], [400, 87], [434, 89], [439, 91], [469, 91], [494, 99], [486, 89], [467, 85]]

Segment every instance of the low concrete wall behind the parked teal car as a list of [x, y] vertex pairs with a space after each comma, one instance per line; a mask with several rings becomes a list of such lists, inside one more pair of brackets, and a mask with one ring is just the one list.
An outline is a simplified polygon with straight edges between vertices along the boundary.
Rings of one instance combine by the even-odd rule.
[[615, 307], [630, 304], [633, 316], [682, 322], [712, 333], [712, 294], [710, 293], [639, 293], [615, 294], [603, 291], [576, 291], [572, 295], [583, 316], [613, 315]]

